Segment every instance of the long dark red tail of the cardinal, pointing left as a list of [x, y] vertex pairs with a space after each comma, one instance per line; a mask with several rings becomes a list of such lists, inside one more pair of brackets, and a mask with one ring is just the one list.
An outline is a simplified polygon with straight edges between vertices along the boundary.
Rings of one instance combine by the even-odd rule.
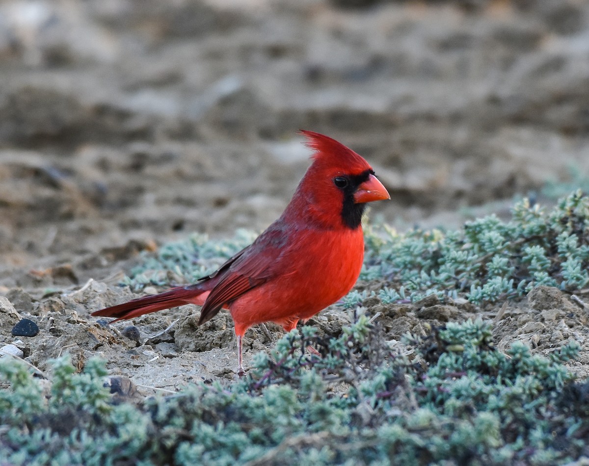
[[184, 304], [202, 305], [209, 295], [209, 290], [186, 289], [176, 287], [168, 289], [157, 295], [148, 295], [143, 298], [133, 299], [123, 304], [117, 304], [100, 311], [92, 312], [92, 315], [101, 315], [102, 317], [116, 317], [112, 322], [123, 319], [131, 319], [150, 312], [161, 311]]

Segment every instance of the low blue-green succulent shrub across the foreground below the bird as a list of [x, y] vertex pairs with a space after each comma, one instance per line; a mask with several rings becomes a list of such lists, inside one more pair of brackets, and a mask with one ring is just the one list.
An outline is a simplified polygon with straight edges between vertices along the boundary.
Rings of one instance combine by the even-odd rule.
[[[564, 464], [589, 454], [589, 397], [564, 361], [492, 347], [488, 324], [407, 335], [409, 361], [359, 314], [338, 338], [303, 327], [233, 384], [191, 385], [140, 405], [107, 403], [104, 366], [61, 358], [42, 396], [0, 362], [3, 464]], [[313, 347], [313, 351], [302, 348]], [[583, 395], [585, 394], [585, 395]]]

